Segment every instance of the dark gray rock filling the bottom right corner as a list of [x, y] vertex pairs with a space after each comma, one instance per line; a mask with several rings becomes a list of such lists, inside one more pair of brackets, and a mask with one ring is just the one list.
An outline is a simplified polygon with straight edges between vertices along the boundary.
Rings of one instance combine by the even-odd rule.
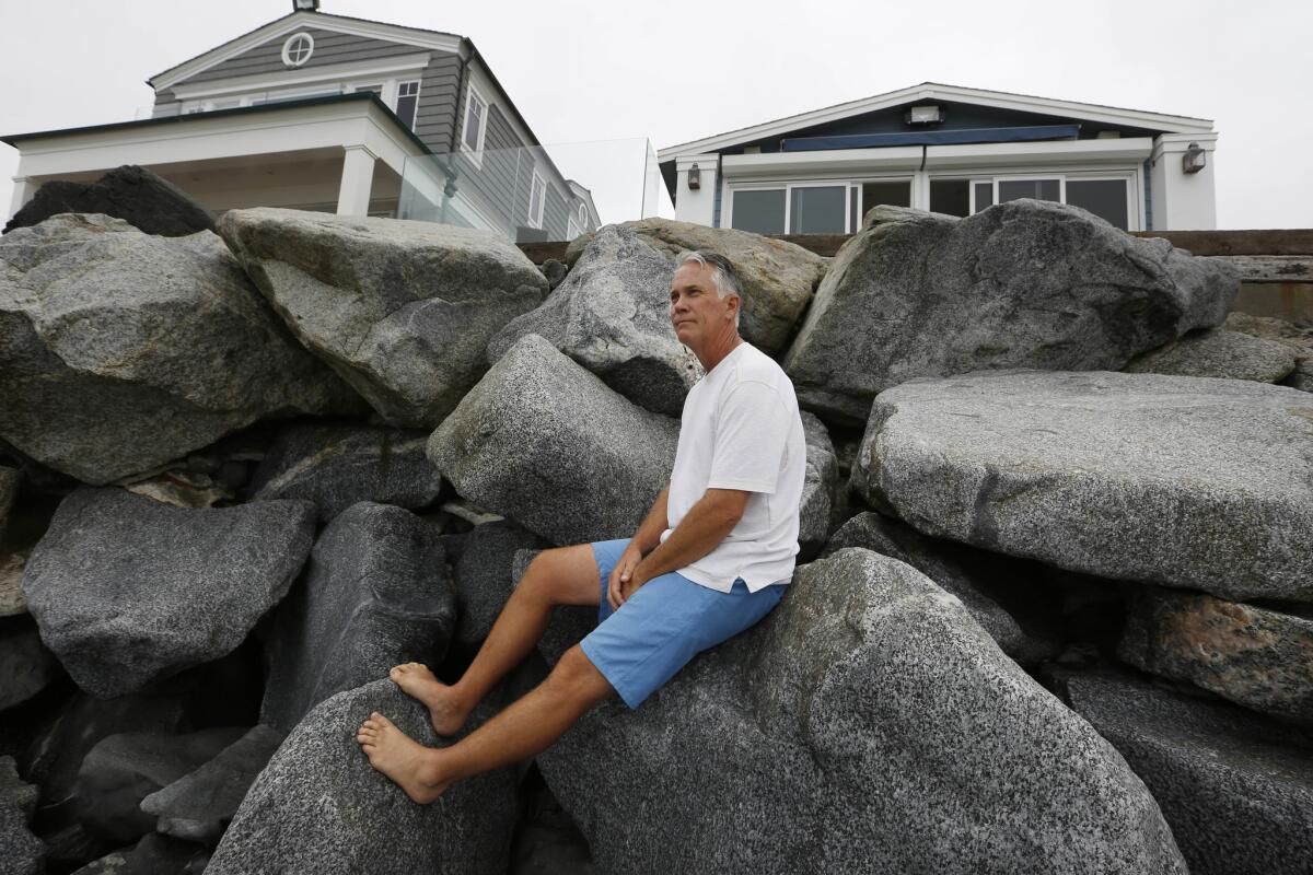
[[1136, 680], [1077, 676], [1066, 690], [1071, 707], [1149, 786], [1192, 875], [1309, 871], [1306, 731]]

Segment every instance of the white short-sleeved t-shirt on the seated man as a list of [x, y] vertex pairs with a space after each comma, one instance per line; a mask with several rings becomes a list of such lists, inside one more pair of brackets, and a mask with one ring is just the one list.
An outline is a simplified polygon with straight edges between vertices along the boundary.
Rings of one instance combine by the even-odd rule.
[[788, 582], [806, 458], [793, 383], [765, 353], [739, 344], [684, 400], [662, 542], [708, 489], [752, 495], [725, 540], [679, 573], [722, 593], [737, 577], [750, 592]]

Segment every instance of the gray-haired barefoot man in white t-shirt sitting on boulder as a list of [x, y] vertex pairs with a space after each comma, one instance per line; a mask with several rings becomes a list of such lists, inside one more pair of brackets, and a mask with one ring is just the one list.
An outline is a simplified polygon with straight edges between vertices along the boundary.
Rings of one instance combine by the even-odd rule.
[[356, 741], [370, 765], [415, 802], [541, 753], [613, 691], [637, 708], [700, 651], [780, 601], [798, 551], [806, 445], [789, 378], [738, 336], [741, 306], [726, 258], [679, 257], [670, 319], [706, 375], [684, 401], [670, 483], [634, 537], [540, 554], [457, 683], [440, 683], [418, 662], [391, 670], [428, 706], [433, 729], [456, 735], [537, 644], [553, 607], [599, 606], [597, 627], [546, 681], [450, 746], [425, 748], [377, 711], [365, 720]]

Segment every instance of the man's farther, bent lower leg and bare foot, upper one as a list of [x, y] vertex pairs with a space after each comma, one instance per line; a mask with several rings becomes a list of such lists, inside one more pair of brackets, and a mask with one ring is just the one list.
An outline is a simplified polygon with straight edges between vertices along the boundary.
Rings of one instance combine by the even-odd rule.
[[456, 735], [474, 706], [537, 645], [553, 607], [596, 605], [600, 594], [601, 580], [590, 544], [545, 550], [525, 569], [460, 681], [450, 686], [441, 683], [419, 662], [398, 665], [389, 677], [428, 706], [435, 732]]

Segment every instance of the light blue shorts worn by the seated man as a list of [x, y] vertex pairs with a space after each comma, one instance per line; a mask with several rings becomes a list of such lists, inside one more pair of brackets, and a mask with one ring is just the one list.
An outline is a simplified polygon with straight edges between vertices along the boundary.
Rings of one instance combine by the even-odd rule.
[[629, 538], [592, 544], [601, 576], [597, 628], [579, 647], [630, 708], [655, 693], [700, 652], [738, 635], [771, 613], [785, 584], [747, 590], [743, 579], [721, 593], [678, 572], [653, 577], [612, 611], [607, 579]]

